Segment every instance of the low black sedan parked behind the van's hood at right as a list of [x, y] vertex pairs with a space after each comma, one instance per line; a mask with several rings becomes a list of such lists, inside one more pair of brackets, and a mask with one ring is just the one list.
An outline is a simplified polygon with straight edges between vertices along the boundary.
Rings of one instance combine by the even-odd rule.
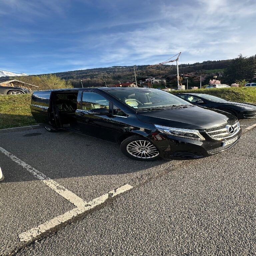
[[253, 118], [256, 115], [256, 104], [253, 103], [228, 101], [199, 93], [177, 93], [175, 95], [198, 106], [223, 110], [240, 119]]

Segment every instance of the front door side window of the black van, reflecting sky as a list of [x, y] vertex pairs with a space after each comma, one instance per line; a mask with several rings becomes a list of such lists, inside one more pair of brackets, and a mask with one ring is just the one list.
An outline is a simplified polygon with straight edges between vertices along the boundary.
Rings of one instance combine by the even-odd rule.
[[95, 108], [109, 109], [109, 101], [96, 92], [83, 92], [82, 106], [83, 110]]

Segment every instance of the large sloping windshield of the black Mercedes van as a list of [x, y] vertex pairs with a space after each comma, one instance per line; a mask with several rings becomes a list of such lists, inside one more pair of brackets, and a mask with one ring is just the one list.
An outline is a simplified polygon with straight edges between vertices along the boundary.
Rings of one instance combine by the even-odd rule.
[[158, 89], [114, 89], [107, 92], [134, 109], [191, 105], [175, 95]]

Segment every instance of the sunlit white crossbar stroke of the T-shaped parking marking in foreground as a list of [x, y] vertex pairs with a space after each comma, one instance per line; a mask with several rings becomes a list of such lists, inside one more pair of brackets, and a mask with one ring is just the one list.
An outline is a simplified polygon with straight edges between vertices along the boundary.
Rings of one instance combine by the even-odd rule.
[[104, 203], [108, 198], [115, 197], [120, 193], [128, 191], [132, 189], [133, 186], [126, 184], [122, 187], [117, 188], [116, 190], [111, 190], [107, 194], [104, 194], [100, 197], [93, 199], [92, 201], [88, 202], [86, 205], [82, 207], [74, 208], [68, 212], [65, 212], [62, 215], [59, 215], [45, 223], [39, 225], [38, 227], [32, 228], [26, 232], [23, 232], [19, 235], [21, 242], [29, 242], [36, 240], [38, 237], [42, 236], [43, 234], [53, 230], [59, 225], [64, 224], [65, 222], [71, 220], [72, 218], [85, 213], [88, 210], [93, 209], [94, 207]]

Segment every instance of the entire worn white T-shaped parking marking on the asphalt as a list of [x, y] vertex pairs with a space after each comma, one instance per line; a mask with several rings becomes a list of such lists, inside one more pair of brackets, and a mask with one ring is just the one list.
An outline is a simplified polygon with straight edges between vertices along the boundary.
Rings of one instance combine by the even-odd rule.
[[107, 194], [104, 194], [100, 197], [97, 197], [93, 199], [90, 202], [86, 202], [73, 192], [69, 191], [59, 183], [55, 182], [54, 180], [48, 178], [45, 174], [42, 172], [36, 170], [29, 164], [26, 164], [24, 161], [19, 159], [18, 157], [14, 156], [4, 148], [0, 147], [0, 152], [5, 154], [7, 157], [9, 157], [12, 161], [15, 163], [21, 165], [23, 168], [25, 168], [28, 172], [34, 175], [37, 179], [41, 180], [44, 184], [46, 184], [48, 187], [50, 187], [52, 190], [54, 190], [56, 193], [67, 199], [69, 202], [73, 203], [76, 208], [65, 212], [62, 215], [59, 215], [49, 221], [46, 221], [45, 223], [39, 225], [38, 227], [32, 228], [26, 232], [23, 232], [19, 235], [21, 242], [29, 242], [36, 240], [36, 238], [41, 237], [43, 234], [51, 231], [52, 229], [56, 228], [57, 226], [64, 224], [65, 222], [68, 222], [72, 218], [93, 209], [94, 207], [104, 203], [108, 198], [115, 197], [118, 194], [121, 194], [125, 191], [128, 191], [133, 188], [133, 186], [126, 184], [123, 185], [115, 190], [109, 191]]

